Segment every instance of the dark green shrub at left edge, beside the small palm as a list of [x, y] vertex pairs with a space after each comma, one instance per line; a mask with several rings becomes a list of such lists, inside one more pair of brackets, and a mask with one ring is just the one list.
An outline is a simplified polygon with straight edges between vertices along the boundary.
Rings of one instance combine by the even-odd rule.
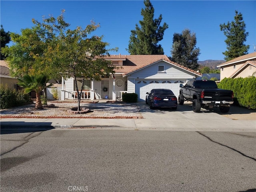
[[10, 89], [7, 85], [0, 85], [0, 109], [20, 106], [30, 102], [30, 96], [22, 90]]

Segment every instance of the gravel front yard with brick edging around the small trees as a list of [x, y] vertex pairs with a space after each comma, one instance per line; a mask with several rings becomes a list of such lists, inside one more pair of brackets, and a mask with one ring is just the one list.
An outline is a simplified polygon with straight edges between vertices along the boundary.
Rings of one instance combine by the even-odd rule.
[[53, 108], [44, 107], [36, 110], [35, 104], [0, 110], [1, 118], [142, 118], [135, 104], [116, 102], [81, 102], [80, 106], [88, 108], [85, 114], [74, 114], [68, 112], [77, 107], [77, 102], [47, 102], [54, 104]]

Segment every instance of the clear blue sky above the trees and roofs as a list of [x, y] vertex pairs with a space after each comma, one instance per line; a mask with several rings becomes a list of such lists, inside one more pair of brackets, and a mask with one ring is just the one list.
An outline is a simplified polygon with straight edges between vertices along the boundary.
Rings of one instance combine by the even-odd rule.
[[[232, 22], [235, 10], [241, 12], [249, 36], [245, 44], [256, 45], [256, 1], [183, 1], [183, 0], [151, 0], [154, 7], [154, 18], [162, 14], [162, 23], [169, 26], [164, 32], [164, 39], [159, 42], [164, 54], [171, 56], [172, 38], [174, 33], [181, 33], [185, 28], [196, 33], [200, 48], [199, 60], [224, 60], [222, 52], [226, 51], [226, 36], [220, 31], [220, 24]], [[32, 18], [42, 22], [42, 16], [52, 14], [55, 18], [65, 9], [64, 18], [70, 23], [71, 29], [76, 26], [85, 28], [91, 20], [100, 23], [95, 34], [104, 36], [104, 42], [110, 43], [109, 48], [118, 47], [118, 52], [111, 54], [129, 54], [128, 48], [131, 30], [142, 20], [141, 9], [145, 8], [143, 0], [1, 0], [0, 22], [4, 30], [21, 33], [24, 28], [31, 28]], [[139, 25], [140, 26], [140, 25]], [[249, 53], [254, 52], [254, 45]]]

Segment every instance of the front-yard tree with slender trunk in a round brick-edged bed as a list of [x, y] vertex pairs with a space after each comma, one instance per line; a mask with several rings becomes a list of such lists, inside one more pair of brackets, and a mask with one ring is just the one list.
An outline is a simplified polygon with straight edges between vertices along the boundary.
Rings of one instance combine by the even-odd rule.
[[[64, 78], [74, 78], [76, 92], [78, 95], [78, 111], [84, 80], [91, 78], [101, 80], [104, 75], [114, 74], [114, 66], [111, 61], [105, 59], [109, 51], [117, 51], [117, 48], [106, 49], [107, 42], [102, 42], [103, 36], [89, 36], [99, 24], [91, 22], [85, 29], [77, 26], [74, 30], [69, 29], [70, 24], [64, 20], [65, 10], [57, 18], [50, 16], [43, 18], [40, 23], [33, 20], [42, 30], [46, 30], [49, 38], [48, 51], [44, 54], [50, 66], [54, 66], [56, 73], [62, 74]], [[57, 61], [57, 62], [56, 62]], [[82, 86], [78, 88], [77, 78], [82, 78]]]

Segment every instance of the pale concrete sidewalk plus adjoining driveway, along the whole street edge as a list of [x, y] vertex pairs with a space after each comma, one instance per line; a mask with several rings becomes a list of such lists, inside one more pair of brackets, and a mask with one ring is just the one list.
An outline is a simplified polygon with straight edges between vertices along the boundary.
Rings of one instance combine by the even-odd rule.
[[[180, 131], [234, 131], [256, 132], [256, 111], [231, 106], [228, 114], [202, 110], [194, 113], [190, 103], [178, 106], [178, 110], [150, 110], [144, 102], [137, 106], [141, 119], [100, 118], [2, 118], [2, 128], [46, 128], [62, 129], [122, 129], [122, 130], [180, 130]], [[236, 118], [228, 116], [236, 116]], [[250, 116], [237, 119], [239, 116]], [[255, 118], [254, 118], [255, 117]]]

